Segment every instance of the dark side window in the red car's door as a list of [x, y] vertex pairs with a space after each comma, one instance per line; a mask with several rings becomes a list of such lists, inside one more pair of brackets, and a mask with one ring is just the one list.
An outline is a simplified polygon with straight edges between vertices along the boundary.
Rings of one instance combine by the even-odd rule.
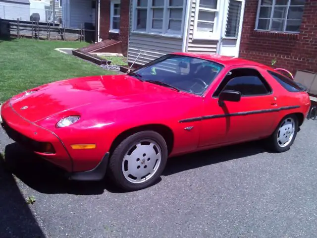
[[266, 95], [272, 91], [260, 72], [253, 68], [231, 70], [220, 83], [214, 96], [218, 96], [223, 90], [238, 91], [241, 96]]

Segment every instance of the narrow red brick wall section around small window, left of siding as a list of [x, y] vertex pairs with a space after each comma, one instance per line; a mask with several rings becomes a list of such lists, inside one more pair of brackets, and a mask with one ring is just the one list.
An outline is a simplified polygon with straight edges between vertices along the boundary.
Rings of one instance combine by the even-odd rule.
[[128, 51], [130, 0], [121, 0], [120, 2], [120, 31], [117, 34], [109, 32], [110, 0], [100, 0], [100, 38], [121, 41], [122, 54], [126, 56]]

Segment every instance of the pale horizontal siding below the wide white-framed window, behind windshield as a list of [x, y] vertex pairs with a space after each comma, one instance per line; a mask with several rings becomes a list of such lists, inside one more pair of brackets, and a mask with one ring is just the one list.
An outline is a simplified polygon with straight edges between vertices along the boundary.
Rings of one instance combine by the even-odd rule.
[[140, 51], [142, 51], [142, 53], [135, 63], [141, 65], [158, 59], [166, 54], [182, 51], [182, 38], [151, 36], [146, 33], [140, 34], [132, 32], [133, 17], [133, 0], [130, 0], [128, 62], [134, 62]]

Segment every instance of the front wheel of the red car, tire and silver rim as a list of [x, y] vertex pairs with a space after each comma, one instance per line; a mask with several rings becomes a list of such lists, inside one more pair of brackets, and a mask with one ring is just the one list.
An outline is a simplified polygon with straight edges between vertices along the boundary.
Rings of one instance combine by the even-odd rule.
[[149, 187], [163, 172], [167, 151], [166, 142], [159, 133], [137, 132], [124, 139], [114, 149], [108, 165], [109, 177], [116, 186], [125, 191]]

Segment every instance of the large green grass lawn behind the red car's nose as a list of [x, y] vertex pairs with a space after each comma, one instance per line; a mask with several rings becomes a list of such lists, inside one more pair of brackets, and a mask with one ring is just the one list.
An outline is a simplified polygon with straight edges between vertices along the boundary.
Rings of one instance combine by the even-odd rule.
[[39, 85], [80, 76], [114, 74], [55, 48], [81, 48], [85, 42], [0, 39], [0, 102]]

